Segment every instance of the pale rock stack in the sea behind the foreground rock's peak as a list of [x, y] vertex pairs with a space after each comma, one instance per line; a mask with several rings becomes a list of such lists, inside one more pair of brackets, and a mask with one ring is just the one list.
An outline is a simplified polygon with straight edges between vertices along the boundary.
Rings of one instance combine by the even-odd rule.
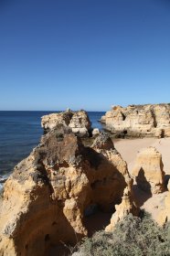
[[51, 113], [41, 119], [41, 126], [45, 133], [55, 129], [58, 125], [69, 127], [73, 133], [80, 136], [88, 136], [91, 130], [91, 123], [88, 113], [85, 111]]

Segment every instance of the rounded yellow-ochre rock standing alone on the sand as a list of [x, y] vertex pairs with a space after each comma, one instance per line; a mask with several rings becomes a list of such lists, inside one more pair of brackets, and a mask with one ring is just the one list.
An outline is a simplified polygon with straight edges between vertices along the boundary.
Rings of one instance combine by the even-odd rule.
[[148, 147], [137, 155], [132, 173], [140, 188], [157, 194], [165, 190], [163, 168], [162, 155], [154, 147]]

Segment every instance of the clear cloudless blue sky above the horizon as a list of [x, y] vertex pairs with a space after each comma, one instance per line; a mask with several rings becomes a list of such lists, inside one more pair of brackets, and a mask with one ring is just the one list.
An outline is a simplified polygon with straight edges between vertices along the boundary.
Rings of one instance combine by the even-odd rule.
[[0, 110], [170, 102], [170, 0], [0, 0]]

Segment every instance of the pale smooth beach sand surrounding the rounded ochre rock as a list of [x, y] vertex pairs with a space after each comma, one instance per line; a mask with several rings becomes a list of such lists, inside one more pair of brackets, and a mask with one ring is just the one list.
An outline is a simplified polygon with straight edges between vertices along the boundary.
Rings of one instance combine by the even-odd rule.
[[[165, 175], [170, 175], [170, 138], [124, 139], [115, 141], [114, 146], [126, 161], [130, 174], [137, 153], [145, 147], [154, 146], [162, 154]], [[138, 200], [138, 205], [149, 212], [153, 219], [156, 220], [160, 211], [165, 207], [164, 201], [168, 192], [165, 191], [164, 193], [151, 197], [138, 187], [134, 186], [133, 191], [136, 201]]]

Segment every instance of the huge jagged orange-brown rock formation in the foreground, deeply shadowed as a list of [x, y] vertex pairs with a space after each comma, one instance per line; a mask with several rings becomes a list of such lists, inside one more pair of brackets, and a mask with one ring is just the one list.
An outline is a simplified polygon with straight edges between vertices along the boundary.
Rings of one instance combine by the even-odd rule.
[[51, 130], [5, 182], [0, 255], [48, 255], [60, 241], [76, 242], [88, 233], [86, 209], [113, 211], [131, 182], [107, 135], [85, 147], [69, 129]]

